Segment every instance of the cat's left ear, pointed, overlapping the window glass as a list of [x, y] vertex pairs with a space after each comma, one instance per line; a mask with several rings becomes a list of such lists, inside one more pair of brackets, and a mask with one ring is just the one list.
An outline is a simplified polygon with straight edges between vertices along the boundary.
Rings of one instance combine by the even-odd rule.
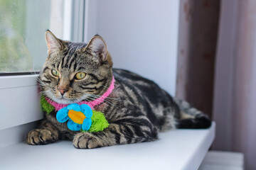
[[48, 47], [48, 55], [52, 54], [53, 52], [58, 52], [63, 48], [63, 44], [58, 40], [58, 38], [53, 35], [50, 30], [46, 30], [46, 44]]

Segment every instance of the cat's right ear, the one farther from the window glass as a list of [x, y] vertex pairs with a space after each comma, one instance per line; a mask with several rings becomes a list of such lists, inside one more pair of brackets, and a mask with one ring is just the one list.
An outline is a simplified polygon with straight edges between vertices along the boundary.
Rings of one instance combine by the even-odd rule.
[[107, 44], [100, 35], [95, 35], [86, 47], [92, 55], [96, 55], [101, 62], [107, 60]]

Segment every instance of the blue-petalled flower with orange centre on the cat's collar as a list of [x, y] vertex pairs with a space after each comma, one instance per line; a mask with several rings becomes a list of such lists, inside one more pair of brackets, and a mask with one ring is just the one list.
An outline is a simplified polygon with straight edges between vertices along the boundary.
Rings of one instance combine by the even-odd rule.
[[59, 123], [68, 120], [68, 128], [73, 131], [89, 130], [92, 125], [92, 109], [87, 104], [73, 103], [57, 112], [56, 118]]

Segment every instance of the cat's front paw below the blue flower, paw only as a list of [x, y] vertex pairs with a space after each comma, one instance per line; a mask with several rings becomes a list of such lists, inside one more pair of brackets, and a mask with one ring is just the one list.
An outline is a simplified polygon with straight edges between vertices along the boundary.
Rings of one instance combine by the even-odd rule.
[[73, 145], [78, 149], [92, 149], [96, 147], [103, 147], [100, 138], [92, 135], [89, 132], [80, 132], [75, 135]]

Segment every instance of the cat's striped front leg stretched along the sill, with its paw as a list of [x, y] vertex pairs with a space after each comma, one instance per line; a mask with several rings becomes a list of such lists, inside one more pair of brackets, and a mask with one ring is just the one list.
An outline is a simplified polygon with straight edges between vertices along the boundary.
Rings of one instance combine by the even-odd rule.
[[112, 123], [102, 132], [79, 132], [73, 139], [73, 145], [78, 149], [92, 149], [152, 141], [157, 139], [157, 135], [157, 130], [153, 125]]

